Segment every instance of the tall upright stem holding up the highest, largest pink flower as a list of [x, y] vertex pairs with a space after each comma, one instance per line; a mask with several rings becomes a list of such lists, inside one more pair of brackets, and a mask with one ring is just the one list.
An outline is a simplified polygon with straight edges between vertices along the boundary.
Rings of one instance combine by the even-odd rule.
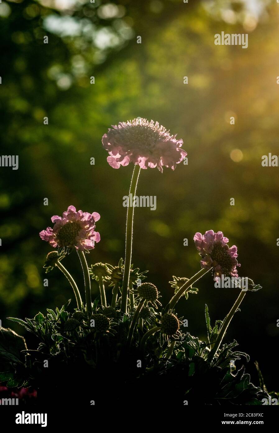
[[132, 259], [132, 239], [133, 239], [133, 215], [134, 215], [134, 204], [135, 201], [133, 197], [136, 195], [136, 185], [140, 174], [140, 166], [135, 165], [133, 176], [129, 191], [132, 194], [132, 206], [127, 207], [127, 224], [126, 224], [126, 247], [125, 247], [125, 264], [124, 264], [124, 275], [123, 275], [123, 286], [122, 286], [122, 296], [121, 296], [121, 307], [122, 313], [127, 313], [127, 300], [128, 300], [128, 287], [130, 279], [130, 267]]

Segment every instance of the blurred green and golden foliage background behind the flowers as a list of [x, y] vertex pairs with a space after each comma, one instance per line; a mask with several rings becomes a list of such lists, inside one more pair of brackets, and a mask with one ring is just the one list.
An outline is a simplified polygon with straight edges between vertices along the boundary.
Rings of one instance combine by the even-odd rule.
[[[124, 256], [122, 198], [133, 167], [111, 168], [101, 137], [111, 124], [146, 117], [178, 133], [188, 165], [141, 171], [137, 194], [156, 195], [157, 209], [135, 210], [132, 262], [149, 269], [146, 281], [166, 303], [172, 275], [200, 268], [194, 234], [222, 230], [238, 246], [239, 275], [263, 286], [247, 293], [227, 341], [251, 355], [254, 381], [257, 360], [268, 390], [278, 391], [279, 168], [261, 165], [262, 155], [279, 155], [278, 24], [279, 4], [267, 0], [2, 0], [1, 155], [19, 155], [17, 171], [0, 168], [2, 326], [24, 334], [6, 317], [34, 317], [72, 297], [58, 269], [44, 274], [51, 247], [38, 236], [70, 204], [101, 214], [89, 264]], [[248, 48], [214, 45], [222, 31], [248, 33]], [[77, 255], [63, 264], [82, 287]], [[197, 285], [178, 310], [204, 339], [204, 304], [212, 321], [223, 319], [237, 293], [214, 288], [209, 274]]]

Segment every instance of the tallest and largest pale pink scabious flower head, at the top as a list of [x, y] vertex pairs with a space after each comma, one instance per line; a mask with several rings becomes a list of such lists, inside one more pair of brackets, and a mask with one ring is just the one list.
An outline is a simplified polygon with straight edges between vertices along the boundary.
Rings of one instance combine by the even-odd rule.
[[119, 168], [132, 162], [140, 168], [157, 167], [162, 173], [163, 166], [174, 170], [187, 155], [181, 149], [183, 140], [175, 137], [158, 122], [133, 119], [112, 125], [102, 143], [110, 155], [107, 161], [111, 167]]

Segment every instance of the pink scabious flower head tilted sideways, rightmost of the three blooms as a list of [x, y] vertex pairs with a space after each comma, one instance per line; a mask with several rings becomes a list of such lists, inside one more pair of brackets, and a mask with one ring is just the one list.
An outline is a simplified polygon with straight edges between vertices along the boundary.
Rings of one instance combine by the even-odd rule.
[[213, 230], [208, 230], [204, 235], [196, 233], [194, 241], [202, 257], [200, 264], [205, 269], [214, 269], [214, 279], [221, 275], [238, 277], [236, 267], [240, 264], [236, 259], [238, 257], [237, 246], [233, 245], [229, 248], [228, 238], [222, 232], [215, 233]]

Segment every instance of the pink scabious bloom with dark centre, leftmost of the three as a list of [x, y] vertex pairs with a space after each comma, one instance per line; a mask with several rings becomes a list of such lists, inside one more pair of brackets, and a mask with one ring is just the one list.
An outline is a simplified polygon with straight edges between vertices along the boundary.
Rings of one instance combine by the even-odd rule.
[[97, 212], [89, 213], [69, 206], [63, 216], [54, 215], [51, 221], [53, 229], [48, 227], [39, 234], [41, 239], [51, 246], [63, 249], [76, 248], [81, 251], [93, 249], [95, 242], [99, 242], [100, 233], [95, 232], [95, 222], [100, 219]]

